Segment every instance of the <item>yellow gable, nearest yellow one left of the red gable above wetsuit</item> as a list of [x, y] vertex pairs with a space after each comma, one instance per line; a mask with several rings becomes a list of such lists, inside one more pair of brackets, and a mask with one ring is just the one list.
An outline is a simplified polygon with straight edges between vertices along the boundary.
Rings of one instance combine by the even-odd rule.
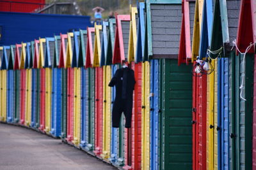
[[95, 23], [95, 38], [94, 38], [94, 49], [93, 49], [93, 67], [100, 66], [100, 55], [101, 55], [101, 47], [100, 47], [100, 31], [102, 30], [102, 25], [97, 25]]

